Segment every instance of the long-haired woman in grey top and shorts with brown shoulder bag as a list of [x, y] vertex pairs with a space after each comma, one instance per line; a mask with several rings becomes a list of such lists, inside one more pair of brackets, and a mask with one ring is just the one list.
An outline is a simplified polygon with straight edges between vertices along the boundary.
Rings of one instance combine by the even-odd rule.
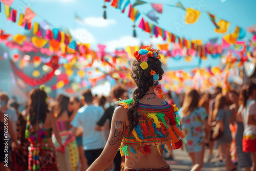
[[228, 108], [226, 97], [222, 94], [217, 95], [215, 101], [215, 109], [212, 114], [211, 123], [212, 126], [215, 126], [218, 122], [221, 123], [221, 130], [223, 135], [217, 140], [217, 145], [221, 147], [221, 153], [225, 156], [225, 165], [228, 171], [237, 170], [236, 166], [231, 161], [230, 154], [230, 143], [232, 141], [231, 131], [229, 129], [229, 123], [231, 122], [231, 111]]

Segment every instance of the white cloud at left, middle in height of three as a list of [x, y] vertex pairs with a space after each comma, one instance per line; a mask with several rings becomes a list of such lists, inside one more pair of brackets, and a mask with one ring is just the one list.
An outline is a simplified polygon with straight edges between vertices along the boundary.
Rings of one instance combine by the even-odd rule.
[[74, 39], [82, 43], [93, 44], [96, 42], [92, 33], [86, 29], [75, 29], [70, 30], [70, 33]]

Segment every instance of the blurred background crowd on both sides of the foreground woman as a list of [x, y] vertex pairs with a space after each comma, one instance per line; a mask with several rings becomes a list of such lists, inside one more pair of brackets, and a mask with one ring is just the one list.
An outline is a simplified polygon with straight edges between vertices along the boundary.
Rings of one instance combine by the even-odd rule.
[[[175, 103], [172, 94], [165, 95], [170, 104]], [[210, 162], [215, 147], [218, 148], [216, 157], [225, 162], [227, 170], [236, 168], [235, 164], [246, 170], [256, 169], [255, 84], [243, 87], [240, 93], [230, 91], [223, 95], [222, 89], [217, 87], [214, 94], [191, 90], [177, 96], [178, 116], [186, 135], [183, 146], [195, 170], [203, 167], [205, 148], [209, 148]], [[33, 89], [25, 110], [20, 112], [16, 99], [9, 100], [8, 95], [1, 92], [1, 137], [4, 137], [4, 114], [8, 114], [9, 120], [8, 159], [2, 151], [1, 170], [7, 169], [5, 161], [8, 161], [8, 170], [35, 170], [39, 159], [45, 162], [41, 166], [46, 170], [86, 170], [99, 157], [108, 139], [116, 102], [129, 96], [122, 86], [116, 86], [109, 97], [93, 96], [87, 90], [81, 97], [60, 94], [54, 101], [47, 98], [43, 89]], [[33, 111], [38, 115], [30, 115]], [[1, 141], [4, 145], [3, 138]], [[41, 141], [40, 146], [46, 147], [39, 150], [40, 147], [34, 146], [38, 141]], [[231, 143], [236, 145], [234, 160], [231, 160]], [[172, 151], [165, 159], [173, 160]], [[117, 153], [105, 170], [119, 171], [123, 160]]]

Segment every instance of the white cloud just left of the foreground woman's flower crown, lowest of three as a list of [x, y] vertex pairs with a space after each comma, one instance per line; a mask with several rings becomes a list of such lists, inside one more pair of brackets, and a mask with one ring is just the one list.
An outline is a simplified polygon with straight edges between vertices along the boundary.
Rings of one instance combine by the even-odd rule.
[[132, 36], [123, 36], [120, 39], [117, 40], [111, 40], [108, 42], [105, 42], [104, 45], [106, 45], [106, 51], [113, 52], [117, 48], [126, 48], [127, 46], [140, 46], [141, 41], [138, 38], [134, 38]]

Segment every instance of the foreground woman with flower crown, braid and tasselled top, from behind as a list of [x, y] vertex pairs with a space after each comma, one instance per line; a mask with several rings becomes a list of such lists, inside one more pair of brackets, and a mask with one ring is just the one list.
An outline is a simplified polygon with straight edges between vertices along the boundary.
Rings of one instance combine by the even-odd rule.
[[121, 106], [114, 112], [109, 140], [89, 171], [103, 170], [112, 162], [118, 148], [121, 155], [125, 155], [124, 171], [169, 171], [162, 156], [165, 144], [175, 149], [182, 145], [175, 135], [184, 137], [177, 129], [179, 120], [175, 112], [178, 109], [161, 99], [163, 92], [158, 81], [164, 71], [159, 50], [147, 47], [136, 51], [134, 56], [131, 76], [136, 89], [133, 98], [119, 101]]

